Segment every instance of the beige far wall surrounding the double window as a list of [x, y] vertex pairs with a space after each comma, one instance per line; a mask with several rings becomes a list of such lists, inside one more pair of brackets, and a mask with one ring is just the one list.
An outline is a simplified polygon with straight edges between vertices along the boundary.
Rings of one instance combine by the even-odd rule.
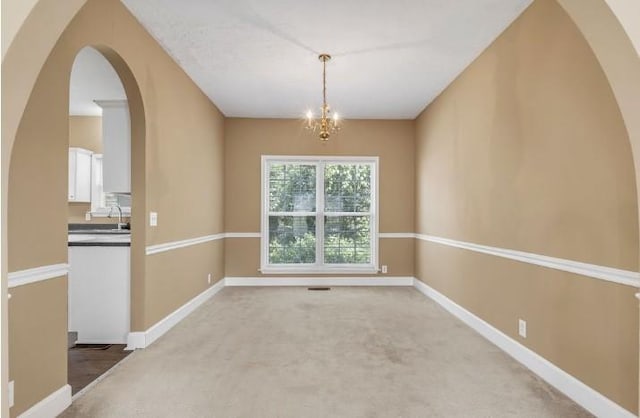
[[[225, 125], [225, 231], [260, 232], [262, 155], [350, 155], [379, 157], [379, 231], [414, 229], [414, 122], [348, 120], [322, 143], [300, 120], [227, 119]], [[226, 275], [257, 276], [260, 239], [226, 243]], [[379, 263], [388, 275], [413, 275], [412, 240], [380, 240]]]

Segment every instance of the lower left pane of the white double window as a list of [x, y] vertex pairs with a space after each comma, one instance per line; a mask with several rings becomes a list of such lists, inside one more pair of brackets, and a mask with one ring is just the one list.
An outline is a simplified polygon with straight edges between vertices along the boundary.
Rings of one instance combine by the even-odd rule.
[[315, 262], [315, 216], [269, 216], [269, 263]]

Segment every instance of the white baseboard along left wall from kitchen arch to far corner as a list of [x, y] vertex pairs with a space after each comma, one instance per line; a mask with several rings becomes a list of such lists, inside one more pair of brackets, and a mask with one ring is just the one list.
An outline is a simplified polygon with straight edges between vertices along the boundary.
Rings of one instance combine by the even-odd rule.
[[126, 350], [135, 350], [136, 348], [149, 347], [155, 340], [164, 335], [173, 328], [178, 322], [186, 318], [191, 312], [195, 311], [200, 305], [209, 300], [213, 295], [218, 293], [225, 286], [225, 280], [221, 279], [213, 286], [207, 288], [163, 319], [155, 325], [143, 332], [130, 332], [127, 336]]

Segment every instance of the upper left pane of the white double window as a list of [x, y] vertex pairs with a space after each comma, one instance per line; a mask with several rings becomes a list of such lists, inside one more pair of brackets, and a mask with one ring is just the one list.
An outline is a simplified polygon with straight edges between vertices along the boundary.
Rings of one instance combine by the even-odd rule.
[[315, 212], [316, 167], [304, 164], [269, 166], [271, 212]]

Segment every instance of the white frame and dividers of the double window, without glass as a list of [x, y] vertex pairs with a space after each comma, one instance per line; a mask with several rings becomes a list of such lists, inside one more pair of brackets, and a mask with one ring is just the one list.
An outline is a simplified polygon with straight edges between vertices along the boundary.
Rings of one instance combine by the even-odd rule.
[[[313, 164], [316, 168], [316, 212], [287, 212], [286, 216], [316, 216], [316, 262], [314, 264], [269, 264], [269, 165], [272, 163]], [[326, 164], [370, 164], [371, 260], [369, 264], [324, 264], [324, 166]], [[379, 157], [263, 155], [261, 166], [260, 271], [263, 274], [371, 274], [378, 272], [378, 166]], [[334, 216], [357, 216], [354, 212], [326, 212]]]

